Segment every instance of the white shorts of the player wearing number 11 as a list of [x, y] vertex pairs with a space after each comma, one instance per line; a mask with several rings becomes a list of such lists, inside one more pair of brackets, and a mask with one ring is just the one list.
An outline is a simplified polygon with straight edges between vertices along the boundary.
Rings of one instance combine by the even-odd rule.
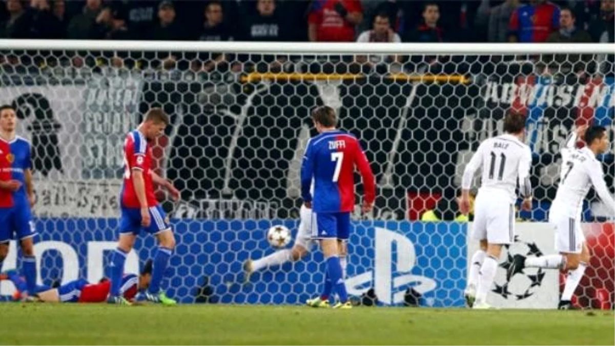
[[489, 244], [512, 244], [515, 241], [515, 204], [498, 193], [480, 193], [474, 202], [472, 238], [487, 239]]

